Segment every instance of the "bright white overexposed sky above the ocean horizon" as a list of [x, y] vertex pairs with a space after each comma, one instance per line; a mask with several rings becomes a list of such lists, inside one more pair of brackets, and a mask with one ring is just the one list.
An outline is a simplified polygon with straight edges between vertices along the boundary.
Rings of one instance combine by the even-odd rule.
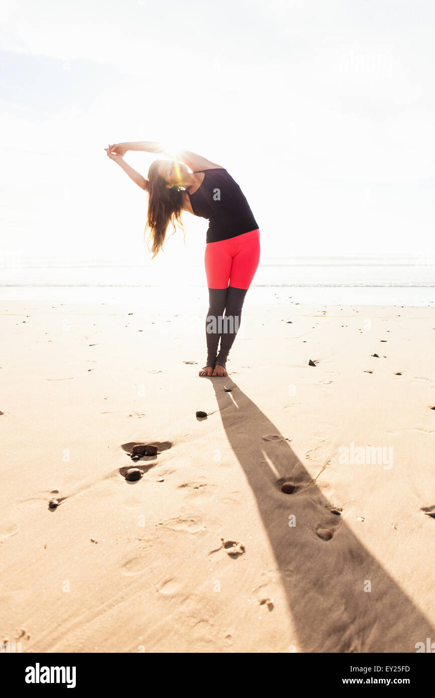
[[[2, 252], [147, 260], [103, 149], [156, 140], [227, 168], [264, 257], [434, 253], [434, 30], [432, 0], [3, 0]], [[201, 260], [184, 218], [165, 258]]]

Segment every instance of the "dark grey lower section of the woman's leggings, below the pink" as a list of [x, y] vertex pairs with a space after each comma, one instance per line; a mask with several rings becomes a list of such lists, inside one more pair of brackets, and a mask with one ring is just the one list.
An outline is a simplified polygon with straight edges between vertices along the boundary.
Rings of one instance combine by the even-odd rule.
[[[209, 288], [209, 309], [205, 320], [207, 366], [226, 367], [230, 348], [240, 326], [242, 306], [247, 288]], [[226, 311], [223, 315], [223, 311]], [[221, 346], [218, 345], [219, 339]]]

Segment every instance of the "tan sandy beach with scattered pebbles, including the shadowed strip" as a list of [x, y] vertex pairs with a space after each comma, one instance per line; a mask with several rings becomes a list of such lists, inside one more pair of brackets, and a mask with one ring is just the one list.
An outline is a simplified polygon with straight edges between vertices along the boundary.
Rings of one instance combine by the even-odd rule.
[[[209, 379], [203, 299], [163, 310], [142, 293], [0, 303], [0, 640], [45, 653], [434, 641], [435, 309], [247, 297], [230, 375]], [[137, 443], [157, 456], [133, 463]]]

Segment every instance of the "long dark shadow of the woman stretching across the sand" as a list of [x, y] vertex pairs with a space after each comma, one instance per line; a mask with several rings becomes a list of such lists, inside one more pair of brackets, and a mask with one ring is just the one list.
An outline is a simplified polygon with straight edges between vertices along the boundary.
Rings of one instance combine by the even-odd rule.
[[[334, 503], [312, 482], [270, 419], [229, 376], [208, 380], [228, 441], [256, 496], [301, 650], [411, 653], [415, 643], [435, 639], [427, 618], [343, 517], [330, 512]], [[268, 435], [277, 436], [263, 440]], [[281, 492], [287, 480], [297, 486], [292, 494]], [[296, 521], [292, 528], [290, 515]], [[318, 537], [319, 528], [331, 530], [332, 538]], [[364, 591], [367, 581], [371, 591]]]

